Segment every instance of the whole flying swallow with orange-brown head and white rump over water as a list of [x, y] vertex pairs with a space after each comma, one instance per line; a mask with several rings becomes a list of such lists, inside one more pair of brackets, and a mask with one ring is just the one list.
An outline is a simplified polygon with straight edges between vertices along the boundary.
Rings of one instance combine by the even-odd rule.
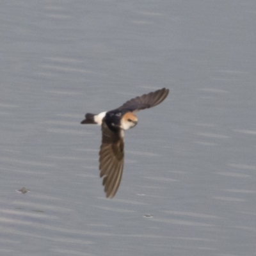
[[119, 108], [94, 115], [87, 113], [81, 124], [101, 125], [102, 142], [99, 152], [100, 177], [106, 197], [113, 198], [120, 185], [124, 168], [124, 130], [138, 123], [134, 114], [160, 104], [168, 95], [166, 88], [128, 100]]

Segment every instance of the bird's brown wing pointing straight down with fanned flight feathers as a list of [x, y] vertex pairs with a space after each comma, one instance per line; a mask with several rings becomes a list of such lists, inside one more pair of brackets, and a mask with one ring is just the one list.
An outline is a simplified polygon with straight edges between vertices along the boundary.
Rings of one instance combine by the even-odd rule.
[[111, 131], [102, 122], [102, 144], [100, 146], [100, 177], [106, 197], [112, 198], [120, 185], [124, 168], [124, 140], [121, 130]]

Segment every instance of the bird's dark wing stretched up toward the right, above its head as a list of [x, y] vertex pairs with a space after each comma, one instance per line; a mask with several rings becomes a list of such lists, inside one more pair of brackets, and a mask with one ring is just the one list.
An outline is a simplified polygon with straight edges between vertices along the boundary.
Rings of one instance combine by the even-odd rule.
[[118, 109], [127, 109], [129, 111], [139, 111], [145, 108], [152, 108], [161, 103], [168, 95], [169, 89], [163, 88], [156, 92], [143, 94], [140, 97], [128, 100]]

